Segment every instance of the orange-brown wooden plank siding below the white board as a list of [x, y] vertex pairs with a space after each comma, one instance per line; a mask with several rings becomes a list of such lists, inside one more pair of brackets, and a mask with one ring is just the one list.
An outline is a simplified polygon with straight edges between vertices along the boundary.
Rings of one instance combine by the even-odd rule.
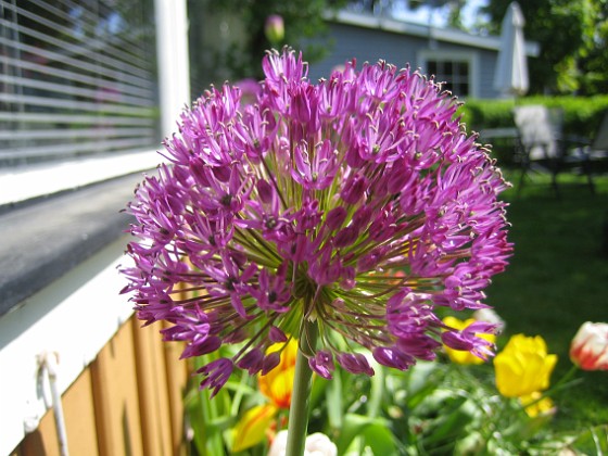
[[[188, 364], [181, 346], [164, 343], [160, 326], [131, 317], [62, 396], [71, 455], [187, 454], [183, 395]], [[52, 409], [14, 456], [59, 456]]]

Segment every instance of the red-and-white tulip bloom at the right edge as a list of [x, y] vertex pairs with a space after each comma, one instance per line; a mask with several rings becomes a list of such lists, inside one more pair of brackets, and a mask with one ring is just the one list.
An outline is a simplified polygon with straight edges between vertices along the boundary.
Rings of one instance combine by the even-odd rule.
[[570, 359], [583, 370], [608, 370], [608, 324], [584, 322], [570, 344]]

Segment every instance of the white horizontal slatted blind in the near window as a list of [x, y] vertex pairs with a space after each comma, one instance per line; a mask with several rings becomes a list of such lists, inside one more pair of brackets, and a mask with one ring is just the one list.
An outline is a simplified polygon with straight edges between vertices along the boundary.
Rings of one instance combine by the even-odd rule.
[[0, 0], [0, 166], [156, 147], [152, 0]]

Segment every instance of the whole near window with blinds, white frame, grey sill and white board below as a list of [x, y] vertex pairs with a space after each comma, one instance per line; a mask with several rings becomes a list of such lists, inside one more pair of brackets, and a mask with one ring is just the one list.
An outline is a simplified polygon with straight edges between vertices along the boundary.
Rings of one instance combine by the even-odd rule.
[[173, 129], [190, 102], [185, 13], [186, 0], [0, 0], [0, 454], [47, 413], [40, 355], [61, 359], [62, 394], [132, 312], [118, 211], [160, 161], [159, 113]]

